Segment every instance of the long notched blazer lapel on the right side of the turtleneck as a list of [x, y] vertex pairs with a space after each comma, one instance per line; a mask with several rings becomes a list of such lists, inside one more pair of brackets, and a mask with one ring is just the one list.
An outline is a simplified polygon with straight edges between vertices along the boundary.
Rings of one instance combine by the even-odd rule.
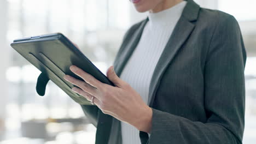
[[156, 64], [149, 86], [149, 106], [153, 106], [156, 90], [167, 66], [170, 65], [173, 57], [176, 55], [178, 50], [189, 38], [190, 33], [193, 31], [195, 25], [192, 22], [197, 19], [199, 9], [199, 5], [194, 3], [192, 0], [188, 0], [188, 3], [183, 10], [182, 16], [177, 22], [177, 25], [174, 28], [172, 35], [159, 58], [158, 63]]

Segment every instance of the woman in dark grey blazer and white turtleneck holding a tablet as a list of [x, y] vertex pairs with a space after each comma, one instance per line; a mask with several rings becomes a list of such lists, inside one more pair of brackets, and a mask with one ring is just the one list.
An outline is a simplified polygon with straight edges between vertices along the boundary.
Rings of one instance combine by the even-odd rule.
[[125, 34], [101, 83], [72, 65], [65, 79], [96, 143], [242, 143], [246, 52], [235, 18], [193, 0], [131, 0], [148, 17]]

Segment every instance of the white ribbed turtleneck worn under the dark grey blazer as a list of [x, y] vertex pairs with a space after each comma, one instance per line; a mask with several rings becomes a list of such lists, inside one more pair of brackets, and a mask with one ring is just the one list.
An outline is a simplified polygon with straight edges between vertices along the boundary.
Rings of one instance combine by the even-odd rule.
[[[162, 51], [170, 38], [187, 1], [162, 10], [148, 13], [149, 21], [136, 49], [125, 65], [120, 78], [138, 92], [146, 104], [149, 103], [149, 84]], [[136, 111], [135, 111], [136, 112]], [[139, 130], [130, 124], [121, 122], [123, 144], [139, 144]]]

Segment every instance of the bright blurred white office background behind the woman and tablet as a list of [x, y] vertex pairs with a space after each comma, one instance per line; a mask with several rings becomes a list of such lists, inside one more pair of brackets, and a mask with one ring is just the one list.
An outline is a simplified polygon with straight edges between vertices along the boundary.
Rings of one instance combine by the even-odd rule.
[[[243, 143], [255, 143], [256, 1], [196, 2], [240, 23], [248, 55]], [[36, 93], [40, 71], [9, 46], [13, 39], [61, 32], [106, 74], [127, 28], [146, 16], [128, 0], [0, 0], [0, 144], [91, 144], [96, 133], [80, 106], [53, 82], [44, 97]]]

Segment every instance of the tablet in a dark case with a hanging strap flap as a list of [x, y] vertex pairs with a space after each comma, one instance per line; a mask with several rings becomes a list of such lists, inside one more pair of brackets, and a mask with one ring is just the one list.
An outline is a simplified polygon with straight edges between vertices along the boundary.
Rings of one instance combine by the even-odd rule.
[[[38, 77], [37, 92], [42, 91], [40, 85], [45, 91], [48, 80], [53, 81], [74, 101], [82, 105], [91, 105], [90, 101], [86, 100], [82, 95], [72, 91], [74, 85], [69, 83], [63, 76], [71, 75], [79, 80], [79, 76], [75, 75], [69, 67], [76, 65], [77, 67], [91, 74], [97, 80], [114, 86], [114, 84], [105, 76], [94, 64], [61, 33], [39, 35], [36, 37], [28, 37], [14, 40], [11, 47], [20, 53], [36, 68], [42, 71]], [[39, 87], [39, 88], [38, 88]], [[42, 92], [40, 92], [42, 93]], [[39, 94], [39, 95], [44, 95]]]

